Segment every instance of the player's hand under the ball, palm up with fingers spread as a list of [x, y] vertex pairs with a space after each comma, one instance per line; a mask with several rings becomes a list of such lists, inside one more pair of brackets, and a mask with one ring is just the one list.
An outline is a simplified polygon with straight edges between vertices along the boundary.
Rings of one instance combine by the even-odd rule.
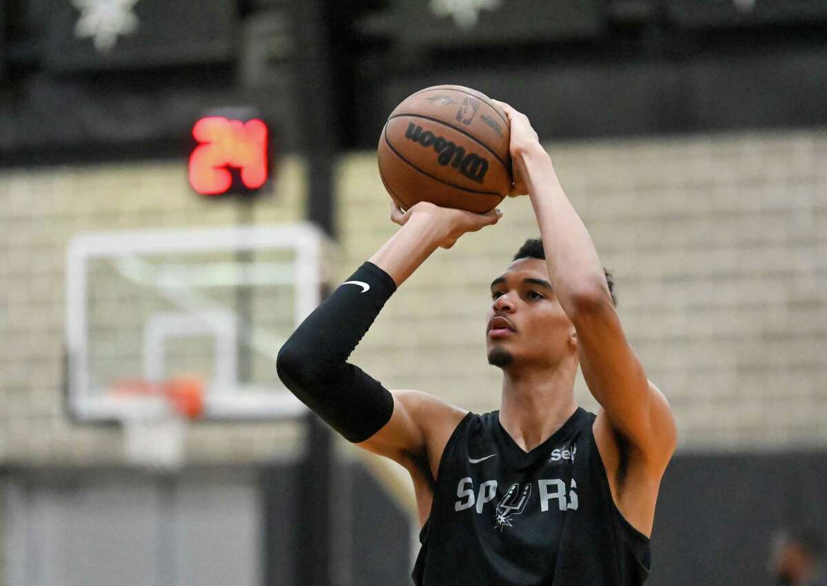
[[437, 226], [436, 241], [440, 248], [451, 248], [466, 232], [476, 232], [485, 226], [496, 224], [502, 215], [499, 209], [480, 214], [455, 207], [437, 206], [431, 202], [415, 203], [403, 212], [398, 202], [394, 199], [390, 201], [390, 219], [399, 226], [404, 226], [412, 217], [421, 217], [423, 224]]

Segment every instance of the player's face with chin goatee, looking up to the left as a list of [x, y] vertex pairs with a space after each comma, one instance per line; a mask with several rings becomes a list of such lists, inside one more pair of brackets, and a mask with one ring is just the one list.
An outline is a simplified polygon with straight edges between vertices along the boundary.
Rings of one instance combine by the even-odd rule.
[[495, 279], [485, 326], [488, 362], [495, 366], [551, 367], [576, 351], [574, 326], [548, 283], [545, 260], [515, 260]]

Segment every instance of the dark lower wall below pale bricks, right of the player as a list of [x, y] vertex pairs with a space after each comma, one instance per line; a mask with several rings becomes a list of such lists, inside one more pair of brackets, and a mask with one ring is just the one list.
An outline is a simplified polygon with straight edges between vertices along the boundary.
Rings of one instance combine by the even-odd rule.
[[827, 454], [677, 455], [657, 500], [653, 586], [770, 586], [773, 531], [827, 526]]

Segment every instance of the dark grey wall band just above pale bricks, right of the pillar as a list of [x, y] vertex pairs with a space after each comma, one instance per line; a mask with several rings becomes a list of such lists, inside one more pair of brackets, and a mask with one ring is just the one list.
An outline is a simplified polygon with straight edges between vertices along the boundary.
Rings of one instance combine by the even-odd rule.
[[[546, 139], [827, 124], [827, 49], [539, 67], [448, 65], [373, 83], [375, 93], [357, 107], [364, 118], [356, 142], [363, 148], [375, 147], [386, 112], [418, 88], [439, 83], [509, 101]], [[376, 96], [382, 97], [378, 107]]]

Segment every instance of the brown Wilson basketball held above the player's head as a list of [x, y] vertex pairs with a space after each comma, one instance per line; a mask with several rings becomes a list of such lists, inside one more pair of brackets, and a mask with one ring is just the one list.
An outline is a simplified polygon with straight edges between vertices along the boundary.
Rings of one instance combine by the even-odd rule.
[[378, 158], [382, 183], [403, 209], [427, 201], [485, 213], [511, 187], [509, 120], [475, 89], [425, 88], [390, 112]]

